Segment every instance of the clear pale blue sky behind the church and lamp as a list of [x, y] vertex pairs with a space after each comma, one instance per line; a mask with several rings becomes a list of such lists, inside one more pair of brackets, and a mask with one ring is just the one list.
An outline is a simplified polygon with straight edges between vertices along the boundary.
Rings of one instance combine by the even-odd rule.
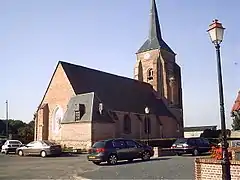
[[[162, 35], [182, 67], [185, 125], [220, 124], [212, 19], [226, 27], [221, 54], [226, 119], [240, 88], [236, 0], [157, 0]], [[30, 121], [59, 60], [133, 77], [148, 36], [150, 0], [1, 0], [0, 118]], [[237, 64], [238, 63], [238, 64]]]

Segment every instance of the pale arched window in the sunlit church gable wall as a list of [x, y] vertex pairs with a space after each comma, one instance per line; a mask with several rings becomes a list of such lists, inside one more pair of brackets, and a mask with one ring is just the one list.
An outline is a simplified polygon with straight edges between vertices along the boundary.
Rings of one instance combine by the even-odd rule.
[[62, 119], [63, 119], [63, 109], [60, 106], [57, 106], [53, 111], [53, 119], [52, 119], [52, 131], [55, 134], [58, 134], [61, 128]]

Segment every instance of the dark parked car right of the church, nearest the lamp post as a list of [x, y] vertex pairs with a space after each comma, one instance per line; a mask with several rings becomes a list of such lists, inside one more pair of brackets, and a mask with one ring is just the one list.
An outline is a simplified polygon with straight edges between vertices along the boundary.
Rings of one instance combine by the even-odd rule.
[[179, 138], [173, 143], [171, 149], [179, 156], [182, 154], [197, 156], [201, 153], [209, 152], [211, 146], [209, 141], [205, 138]]

